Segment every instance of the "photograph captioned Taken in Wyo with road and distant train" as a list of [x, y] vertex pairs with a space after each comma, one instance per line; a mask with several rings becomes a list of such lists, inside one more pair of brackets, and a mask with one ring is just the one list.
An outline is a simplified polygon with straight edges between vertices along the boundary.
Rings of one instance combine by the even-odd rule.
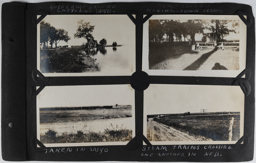
[[46, 147], [125, 145], [135, 136], [129, 85], [49, 86], [36, 102], [37, 139]]

